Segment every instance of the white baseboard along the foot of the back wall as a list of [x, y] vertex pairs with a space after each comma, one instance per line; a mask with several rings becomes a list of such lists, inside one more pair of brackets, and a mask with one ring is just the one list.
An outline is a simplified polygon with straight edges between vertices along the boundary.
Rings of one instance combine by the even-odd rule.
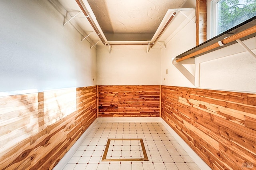
[[98, 122], [160, 122], [160, 117], [99, 117]]

